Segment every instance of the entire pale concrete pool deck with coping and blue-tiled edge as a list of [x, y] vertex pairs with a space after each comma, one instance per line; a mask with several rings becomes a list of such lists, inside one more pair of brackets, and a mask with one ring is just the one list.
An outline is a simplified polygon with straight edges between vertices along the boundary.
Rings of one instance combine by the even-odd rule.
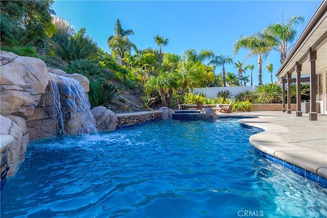
[[[327, 179], [327, 116], [318, 115], [318, 121], [309, 121], [308, 115], [296, 117], [282, 112], [244, 115], [249, 114], [258, 118], [239, 122], [265, 130], [249, 138], [264, 157], [316, 182]], [[314, 178], [310, 172], [318, 177]]]

